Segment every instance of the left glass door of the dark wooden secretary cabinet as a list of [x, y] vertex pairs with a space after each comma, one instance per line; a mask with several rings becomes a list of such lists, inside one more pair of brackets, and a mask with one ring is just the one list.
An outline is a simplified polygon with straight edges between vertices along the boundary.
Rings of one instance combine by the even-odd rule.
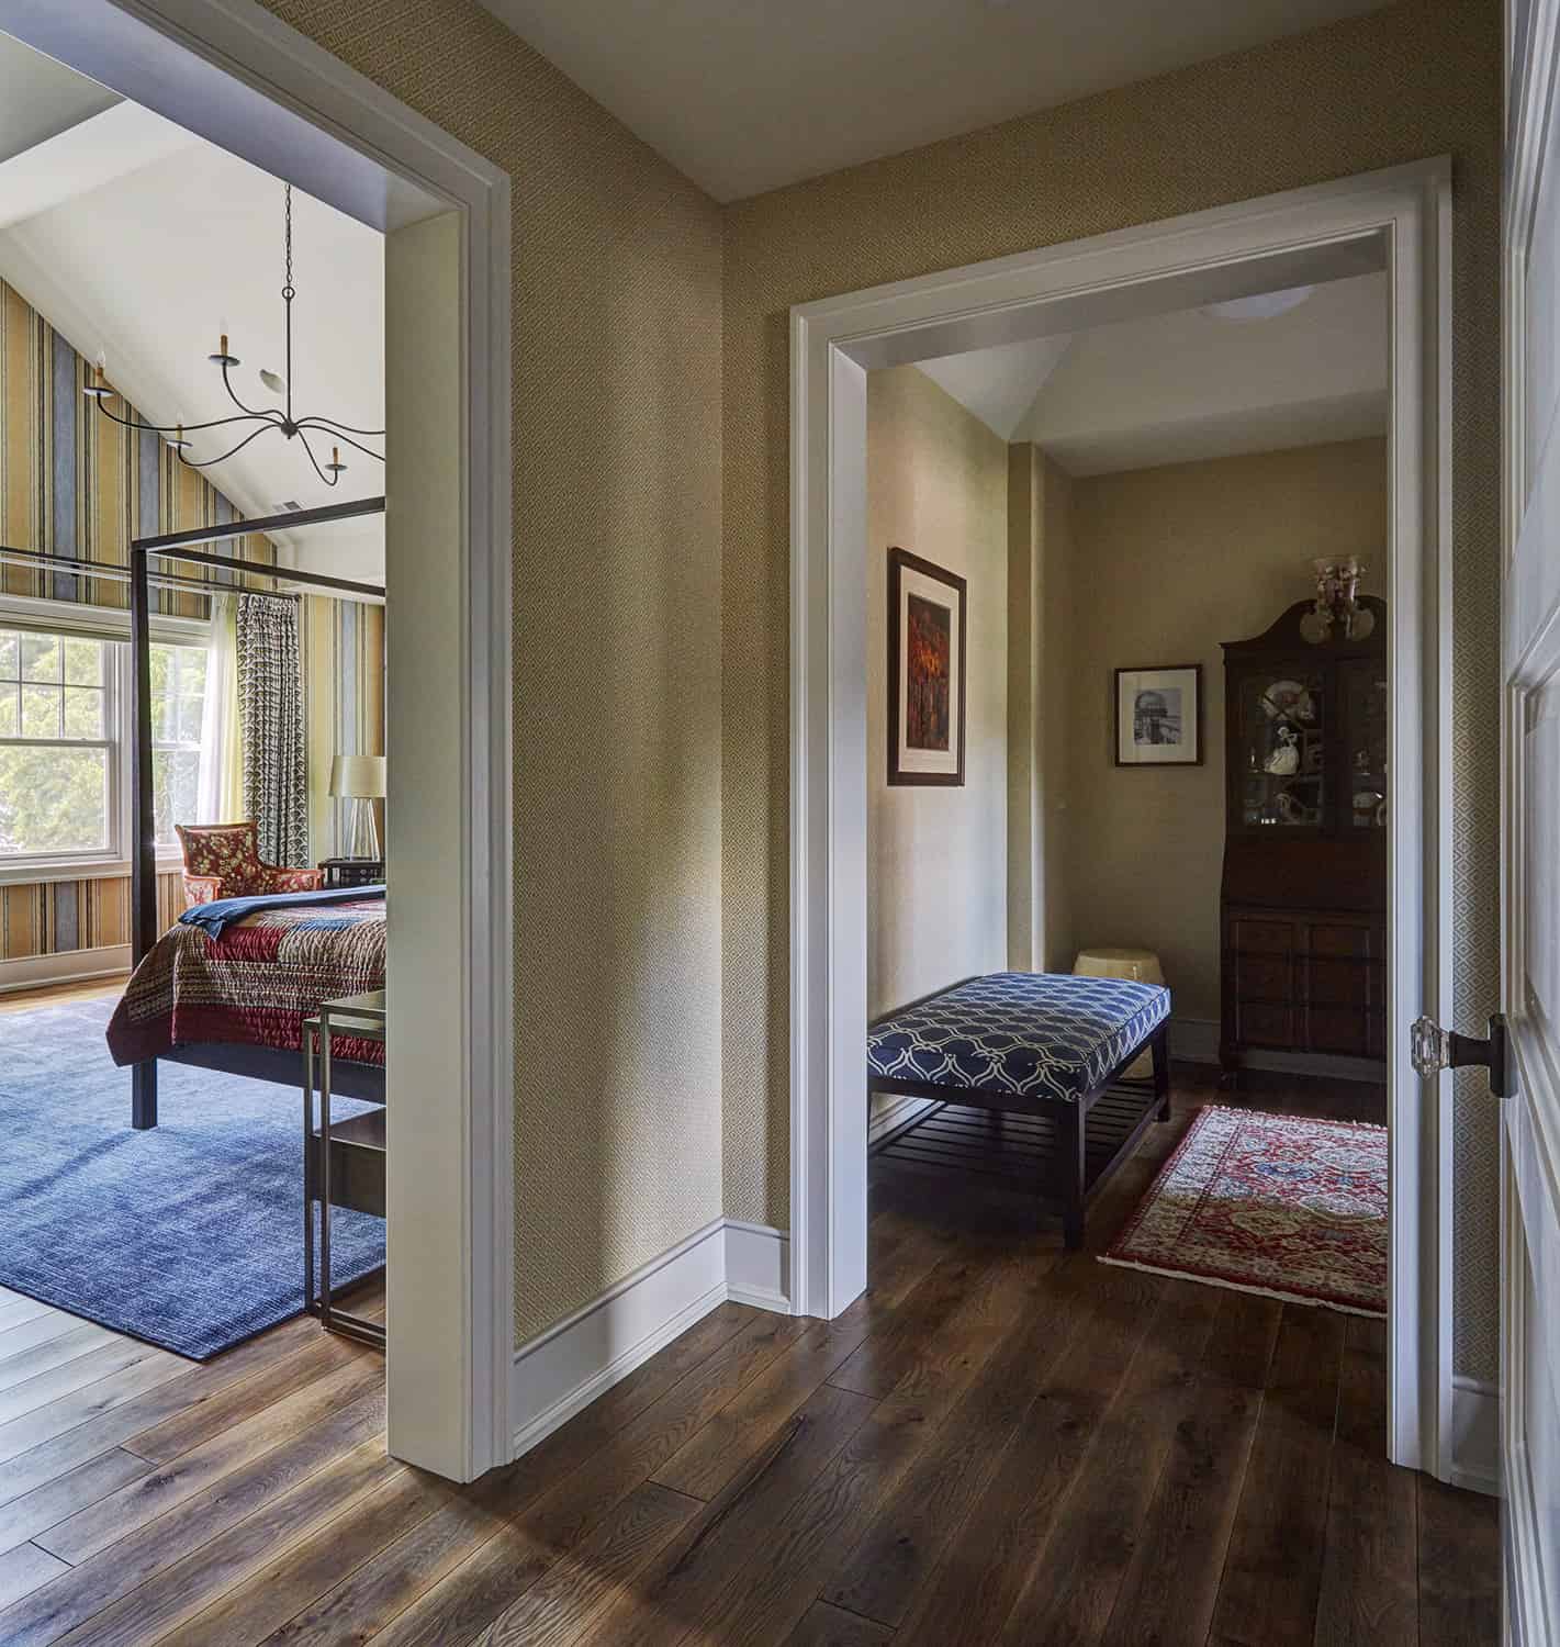
[[1240, 680], [1234, 758], [1245, 828], [1324, 825], [1331, 705], [1323, 679], [1318, 670], [1280, 665]]

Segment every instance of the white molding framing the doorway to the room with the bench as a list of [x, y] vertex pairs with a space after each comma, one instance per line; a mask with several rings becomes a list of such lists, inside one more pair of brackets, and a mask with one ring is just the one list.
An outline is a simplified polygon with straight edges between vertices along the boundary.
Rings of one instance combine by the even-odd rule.
[[1451, 1019], [1445, 156], [791, 310], [791, 1288], [797, 1313], [834, 1316], [866, 1285], [866, 371], [1140, 313], [1148, 283], [1175, 308], [1351, 255], [1384, 255], [1392, 290], [1387, 1454], [1445, 1479], [1451, 1082], [1408, 1066], [1410, 1021]]

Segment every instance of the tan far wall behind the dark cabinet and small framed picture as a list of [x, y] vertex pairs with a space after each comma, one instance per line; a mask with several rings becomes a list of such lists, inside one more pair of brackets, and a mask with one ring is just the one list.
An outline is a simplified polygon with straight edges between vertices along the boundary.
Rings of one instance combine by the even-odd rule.
[[[1176, 463], [1072, 483], [1074, 598], [1048, 614], [1074, 682], [1061, 876], [1066, 949], [1156, 950], [1178, 1019], [1219, 1018], [1224, 654], [1315, 591], [1316, 555], [1357, 555], [1380, 595], [1387, 443]], [[1203, 665], [1203, 764], [1114, 761], [1114, 670]], [[1053, 814], [1054, 819], [1054, 814]], [[1071, 957], [1064, 960], [1071, 965]]]

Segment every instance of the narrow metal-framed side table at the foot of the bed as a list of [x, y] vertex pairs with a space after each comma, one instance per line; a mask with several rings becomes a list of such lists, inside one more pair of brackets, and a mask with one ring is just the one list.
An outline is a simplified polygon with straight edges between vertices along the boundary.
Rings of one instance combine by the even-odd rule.
[[[385, 1039], [384, 990], [321, 1001], [303, 1019], [303, 1308], [320, 1318], [328, 1332], [384, 1347], [385, 1329], [336, 1306], [331, 1285], [331, 1207], [385, 1214], [384, 1105], [343, 1122], [331, 1122], [331, 1038]], [[320, 1117], [315, 1120], [318, 1075]], [[315, 1278], [315, 1204], [320, 1206], [320, 1276]], [[382, 1271], [381, 1271], [382, 1273]], [[364, 1276], [362, 1280], [367, 1280]], [[361, 1281], [354, 1281], [359, 1286]]]

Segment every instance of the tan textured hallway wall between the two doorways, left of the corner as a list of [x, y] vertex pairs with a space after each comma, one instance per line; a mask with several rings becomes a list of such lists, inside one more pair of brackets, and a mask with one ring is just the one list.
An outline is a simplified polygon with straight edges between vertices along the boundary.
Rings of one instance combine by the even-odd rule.
[[514, 178], [524, 1341], [722, 1209], [720, 216], [471, 0], [267, 3]]

